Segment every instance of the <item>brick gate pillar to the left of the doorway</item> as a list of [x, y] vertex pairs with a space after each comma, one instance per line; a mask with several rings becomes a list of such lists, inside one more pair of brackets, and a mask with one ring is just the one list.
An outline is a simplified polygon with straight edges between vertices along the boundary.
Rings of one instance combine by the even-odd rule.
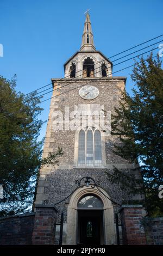
[[53, 205], [35, 205], [33, 245], [54, 245], [57, 212]]

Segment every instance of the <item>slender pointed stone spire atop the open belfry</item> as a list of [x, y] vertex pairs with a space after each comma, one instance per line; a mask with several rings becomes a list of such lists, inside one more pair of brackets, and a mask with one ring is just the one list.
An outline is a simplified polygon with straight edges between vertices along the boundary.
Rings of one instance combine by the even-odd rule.
[[84, 23], [84, 31], [82, 36], [82, 46], [80, 51], [96, 51], [94, 42], [93, 42], [93, 34], [92, 34], [92, 27], [90, 22], [90, 15], [86, 13], [86, 19]]

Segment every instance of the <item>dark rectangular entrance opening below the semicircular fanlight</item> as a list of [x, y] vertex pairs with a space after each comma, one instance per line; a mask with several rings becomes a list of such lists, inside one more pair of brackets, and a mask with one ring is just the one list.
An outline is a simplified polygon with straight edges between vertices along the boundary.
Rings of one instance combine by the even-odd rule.
[[103, 210], [78, 210], [78, 243], [103, 245]]

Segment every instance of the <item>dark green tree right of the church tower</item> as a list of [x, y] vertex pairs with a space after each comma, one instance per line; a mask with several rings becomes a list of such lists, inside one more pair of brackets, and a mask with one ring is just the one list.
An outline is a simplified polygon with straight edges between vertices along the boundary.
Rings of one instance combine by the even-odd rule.
[[[163, 185], [163, 70], [159, 56], [153, 59], [151, 53], [147, 59], [141, 57], [135, 62], [131, 78], [135, 83], [133, 95], [124, 92], [112, 115], [111, 132], [120, 140], [114, 153], [129, 162], [139, 161], [143, 178], [140, 191], [146, 194], [148, 214], [162, 215], [158, 188]], [[122, 181], [122, 176], [115, 169], [109, 179]], [[128, 179], [130, 182], [133, 177], [128, 175]], [[136, 182], [140, 184], [141, 180]]]

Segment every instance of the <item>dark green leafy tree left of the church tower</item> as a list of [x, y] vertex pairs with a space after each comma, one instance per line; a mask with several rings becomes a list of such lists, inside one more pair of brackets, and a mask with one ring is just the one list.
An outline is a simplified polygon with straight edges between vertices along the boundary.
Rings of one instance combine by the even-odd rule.
[[16, 77], [8, 81], [0, 76], [0, 184], [4, 197], [0, 216], [30, 211], [40, 167], [57, 164], [62, 154], [58, 149], [41, 159], [40, 99], [35, 92], [25, 101], [22, 93], [16, 94], [15, 86]]

